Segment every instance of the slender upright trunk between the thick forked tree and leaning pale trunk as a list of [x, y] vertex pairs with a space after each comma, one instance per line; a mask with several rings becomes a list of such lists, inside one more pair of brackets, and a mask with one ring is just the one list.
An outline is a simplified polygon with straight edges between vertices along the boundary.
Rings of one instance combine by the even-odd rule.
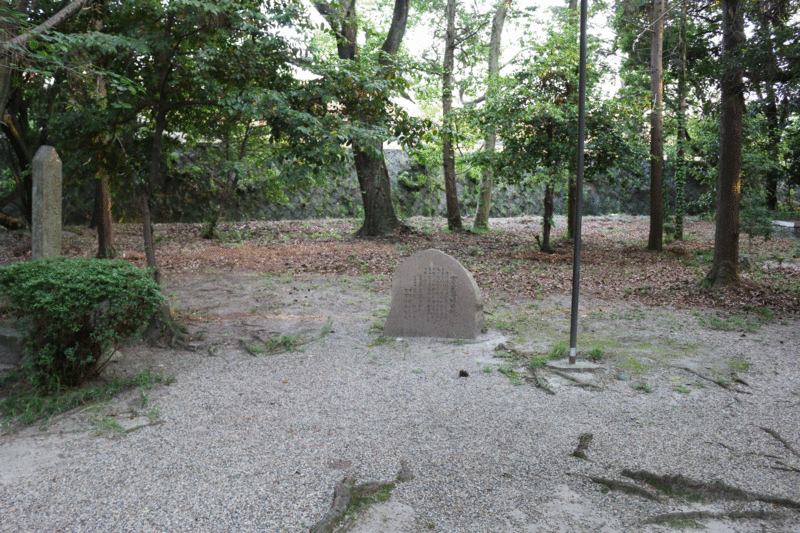
[[453, 110], [453, 67], [456, 52], [456, 0], [447, 0], [446, 8], [447, 32], [444, 43], [444, 64], [442, 72], [442, 123], [444, 139], [442, 141], [442, 161], [444, 166], [444, 195], [447, 201], [447, 228], [450, 231], [461, 231], [461, 212], [458, 208], [458, 191], [456, 190], [456, 158], [453, 150], [454, 125], [450, 113]]

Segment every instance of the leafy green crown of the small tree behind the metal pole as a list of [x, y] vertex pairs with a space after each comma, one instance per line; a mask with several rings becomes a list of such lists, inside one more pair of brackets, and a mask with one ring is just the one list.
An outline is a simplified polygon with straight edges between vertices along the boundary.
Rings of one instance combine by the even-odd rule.
[[[502, 88], [475, 113], [481, 129], [494, 130], [503, 149], [477, 154], [481, 165], [493, 168], [498, 179], [512, 183], [566, 187], [574, 175], [578, 119], [577, 23], [562, 12], [545, 29], [545, 37], [521, 54], [519, 68], [500, 78]], [[601, 79], [607, 67], [599, 43], [589, 46], [585, 176], [605, 175], [612, 167], [633, 168], [644, 153], [639, 125], [646, 99], [630, 91], [617, 99], [604, 98]], [[635, 96], [635, 97], [634, 97]]]

